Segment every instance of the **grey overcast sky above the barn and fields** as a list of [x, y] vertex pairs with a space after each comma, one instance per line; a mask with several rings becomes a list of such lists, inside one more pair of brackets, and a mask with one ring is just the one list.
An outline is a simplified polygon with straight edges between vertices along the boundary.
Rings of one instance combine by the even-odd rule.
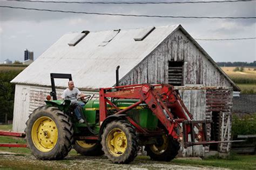
[[[150, 0], [147, 2], [149, 1]], [[106, 5], [5, 2], [0, 0], [0, 5], [136, 15], [256, 16], [255, 1], [208, 4]], [[193, 38], [223, 39], [256, 37], [256, 19], [180, 19], [96, 16], [0, 8], [0, 63], [7, 58], [12, 60], [12, 62], [14, 62], [14, 60], [23, 62], [24, 49], [33, 51], [34, 58], [37, 58], [67, 32], [132, 29], [173, 24], [181, 24]], [[256, 60], [256, 39], [217, 42], [197, 40], [197, 42], [203, 46], [205, 51], [215, 62], [253, 62]]]

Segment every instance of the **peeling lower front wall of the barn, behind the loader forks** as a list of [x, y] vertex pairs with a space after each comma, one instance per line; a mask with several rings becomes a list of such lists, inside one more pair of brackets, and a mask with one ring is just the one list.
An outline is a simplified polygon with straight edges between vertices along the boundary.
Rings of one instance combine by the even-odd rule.
[[[219, 112], [219, 140], [231, 140], [232, 88], [209, 86], [180, 86], [181, 99], [194, 120], [211, 120], [212, 112]], [[211, 139], [211, 127], [207, 127], [208, 139]], [[181, 147], [183, 157], [204, 157], [210, 151], [209, 146]], [[230, 143], [218, 144], [218, 152], [228, 153]]]

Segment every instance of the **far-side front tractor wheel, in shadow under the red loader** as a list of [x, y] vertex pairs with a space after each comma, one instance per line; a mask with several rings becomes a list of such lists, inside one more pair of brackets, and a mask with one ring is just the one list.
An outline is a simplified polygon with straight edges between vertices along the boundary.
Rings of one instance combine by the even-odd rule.
[[158, 139], [158, 144], [145, 146], [147, 155], [156, 161], [171, 161], [176, 157], [179, 149], [179, 142], [165, 134]]

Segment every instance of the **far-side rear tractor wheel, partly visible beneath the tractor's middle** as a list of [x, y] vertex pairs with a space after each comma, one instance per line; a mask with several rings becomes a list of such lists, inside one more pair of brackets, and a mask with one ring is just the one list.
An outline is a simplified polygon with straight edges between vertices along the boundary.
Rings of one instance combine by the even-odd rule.
[[86, 140], [77, 140], [73, 148], [85, 156], [101, 156], [104, 154], [102, 151], [102, 145], [100, 141], [96, 142], [87, 142]]

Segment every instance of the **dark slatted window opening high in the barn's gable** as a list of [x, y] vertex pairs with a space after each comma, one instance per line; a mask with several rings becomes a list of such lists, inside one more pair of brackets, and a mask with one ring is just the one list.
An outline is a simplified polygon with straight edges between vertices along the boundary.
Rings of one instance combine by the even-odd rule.
[[173, 86], [183, 85], [183, 64], [184, 62], [169, 62], [168, 83]]

